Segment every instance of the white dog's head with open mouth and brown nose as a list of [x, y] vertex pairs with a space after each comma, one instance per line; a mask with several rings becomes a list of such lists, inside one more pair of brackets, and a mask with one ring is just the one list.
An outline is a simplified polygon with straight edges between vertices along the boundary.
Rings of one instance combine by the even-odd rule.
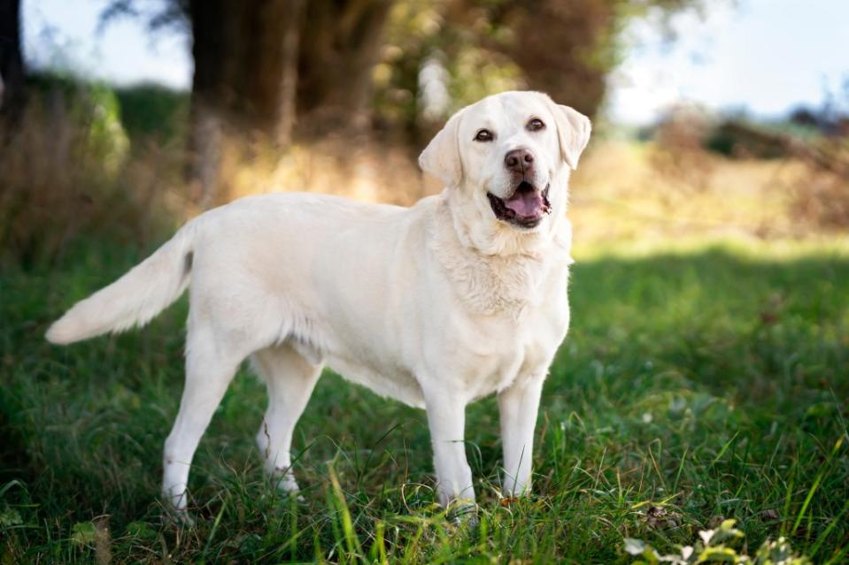
[[539, 92], [505, 92], [454, 114], [419, 164], [473, 205], [476, 221], [536, 233], [565, 210], [569, 172], [589, 140], [578, 111]]

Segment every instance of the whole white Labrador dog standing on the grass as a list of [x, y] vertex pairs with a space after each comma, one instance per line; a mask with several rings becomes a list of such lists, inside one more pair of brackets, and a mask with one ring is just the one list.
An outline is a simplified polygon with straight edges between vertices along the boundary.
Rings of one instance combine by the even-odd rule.
[[498, 393], [504, 493], [519, 495], [569, 324], [567, 184], [589, 137], [590, 120], [547, 95], [484, 98], [421, 153], [440, 195], [411, 208], [295, 193], [232, 202], [77, 303], [47, 339], [145, 324], [190, 286], [186, 385], [162, 485], [179, 513], [197, 443], [249, 356], [268, 386], [259, 450], [283, 490], [297, 490], [292, 429], [327, 364], [427, 409], [445, 507], [474, 504], [465, 408]]

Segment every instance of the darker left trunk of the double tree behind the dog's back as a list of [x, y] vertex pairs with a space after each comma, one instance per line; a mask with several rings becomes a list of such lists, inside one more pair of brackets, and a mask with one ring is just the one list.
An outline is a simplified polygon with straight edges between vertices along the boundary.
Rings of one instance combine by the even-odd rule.
[[191, 0], [190, 179], [202, 205], [220, 198], [228, 138], [289, 143], [303, 0]]

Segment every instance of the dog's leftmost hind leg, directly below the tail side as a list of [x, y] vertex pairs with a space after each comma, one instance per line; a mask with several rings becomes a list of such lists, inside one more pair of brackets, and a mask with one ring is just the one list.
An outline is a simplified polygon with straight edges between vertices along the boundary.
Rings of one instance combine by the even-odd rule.
[[186, 354], [186, 384], [180, 412], [165, 443], [162, 493], [181, 517], [188, 519], [189, 468], [197, 444], [212, 420], [243, 356], [222, 352], [213, 340], [189, 340]]

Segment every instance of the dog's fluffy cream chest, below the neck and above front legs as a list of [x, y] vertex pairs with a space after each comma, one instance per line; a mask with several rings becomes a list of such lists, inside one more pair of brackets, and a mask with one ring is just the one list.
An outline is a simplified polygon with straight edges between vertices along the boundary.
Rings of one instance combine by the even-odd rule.
[[548, 370], [569, 322], [565, 226], [546, 248], [505, 256], [459, 245], [448, 227], [432, 233], [430, 249], [444, 275], [437, 308], [446, 313], [434, 318], [429, 357], [468, 400]]

